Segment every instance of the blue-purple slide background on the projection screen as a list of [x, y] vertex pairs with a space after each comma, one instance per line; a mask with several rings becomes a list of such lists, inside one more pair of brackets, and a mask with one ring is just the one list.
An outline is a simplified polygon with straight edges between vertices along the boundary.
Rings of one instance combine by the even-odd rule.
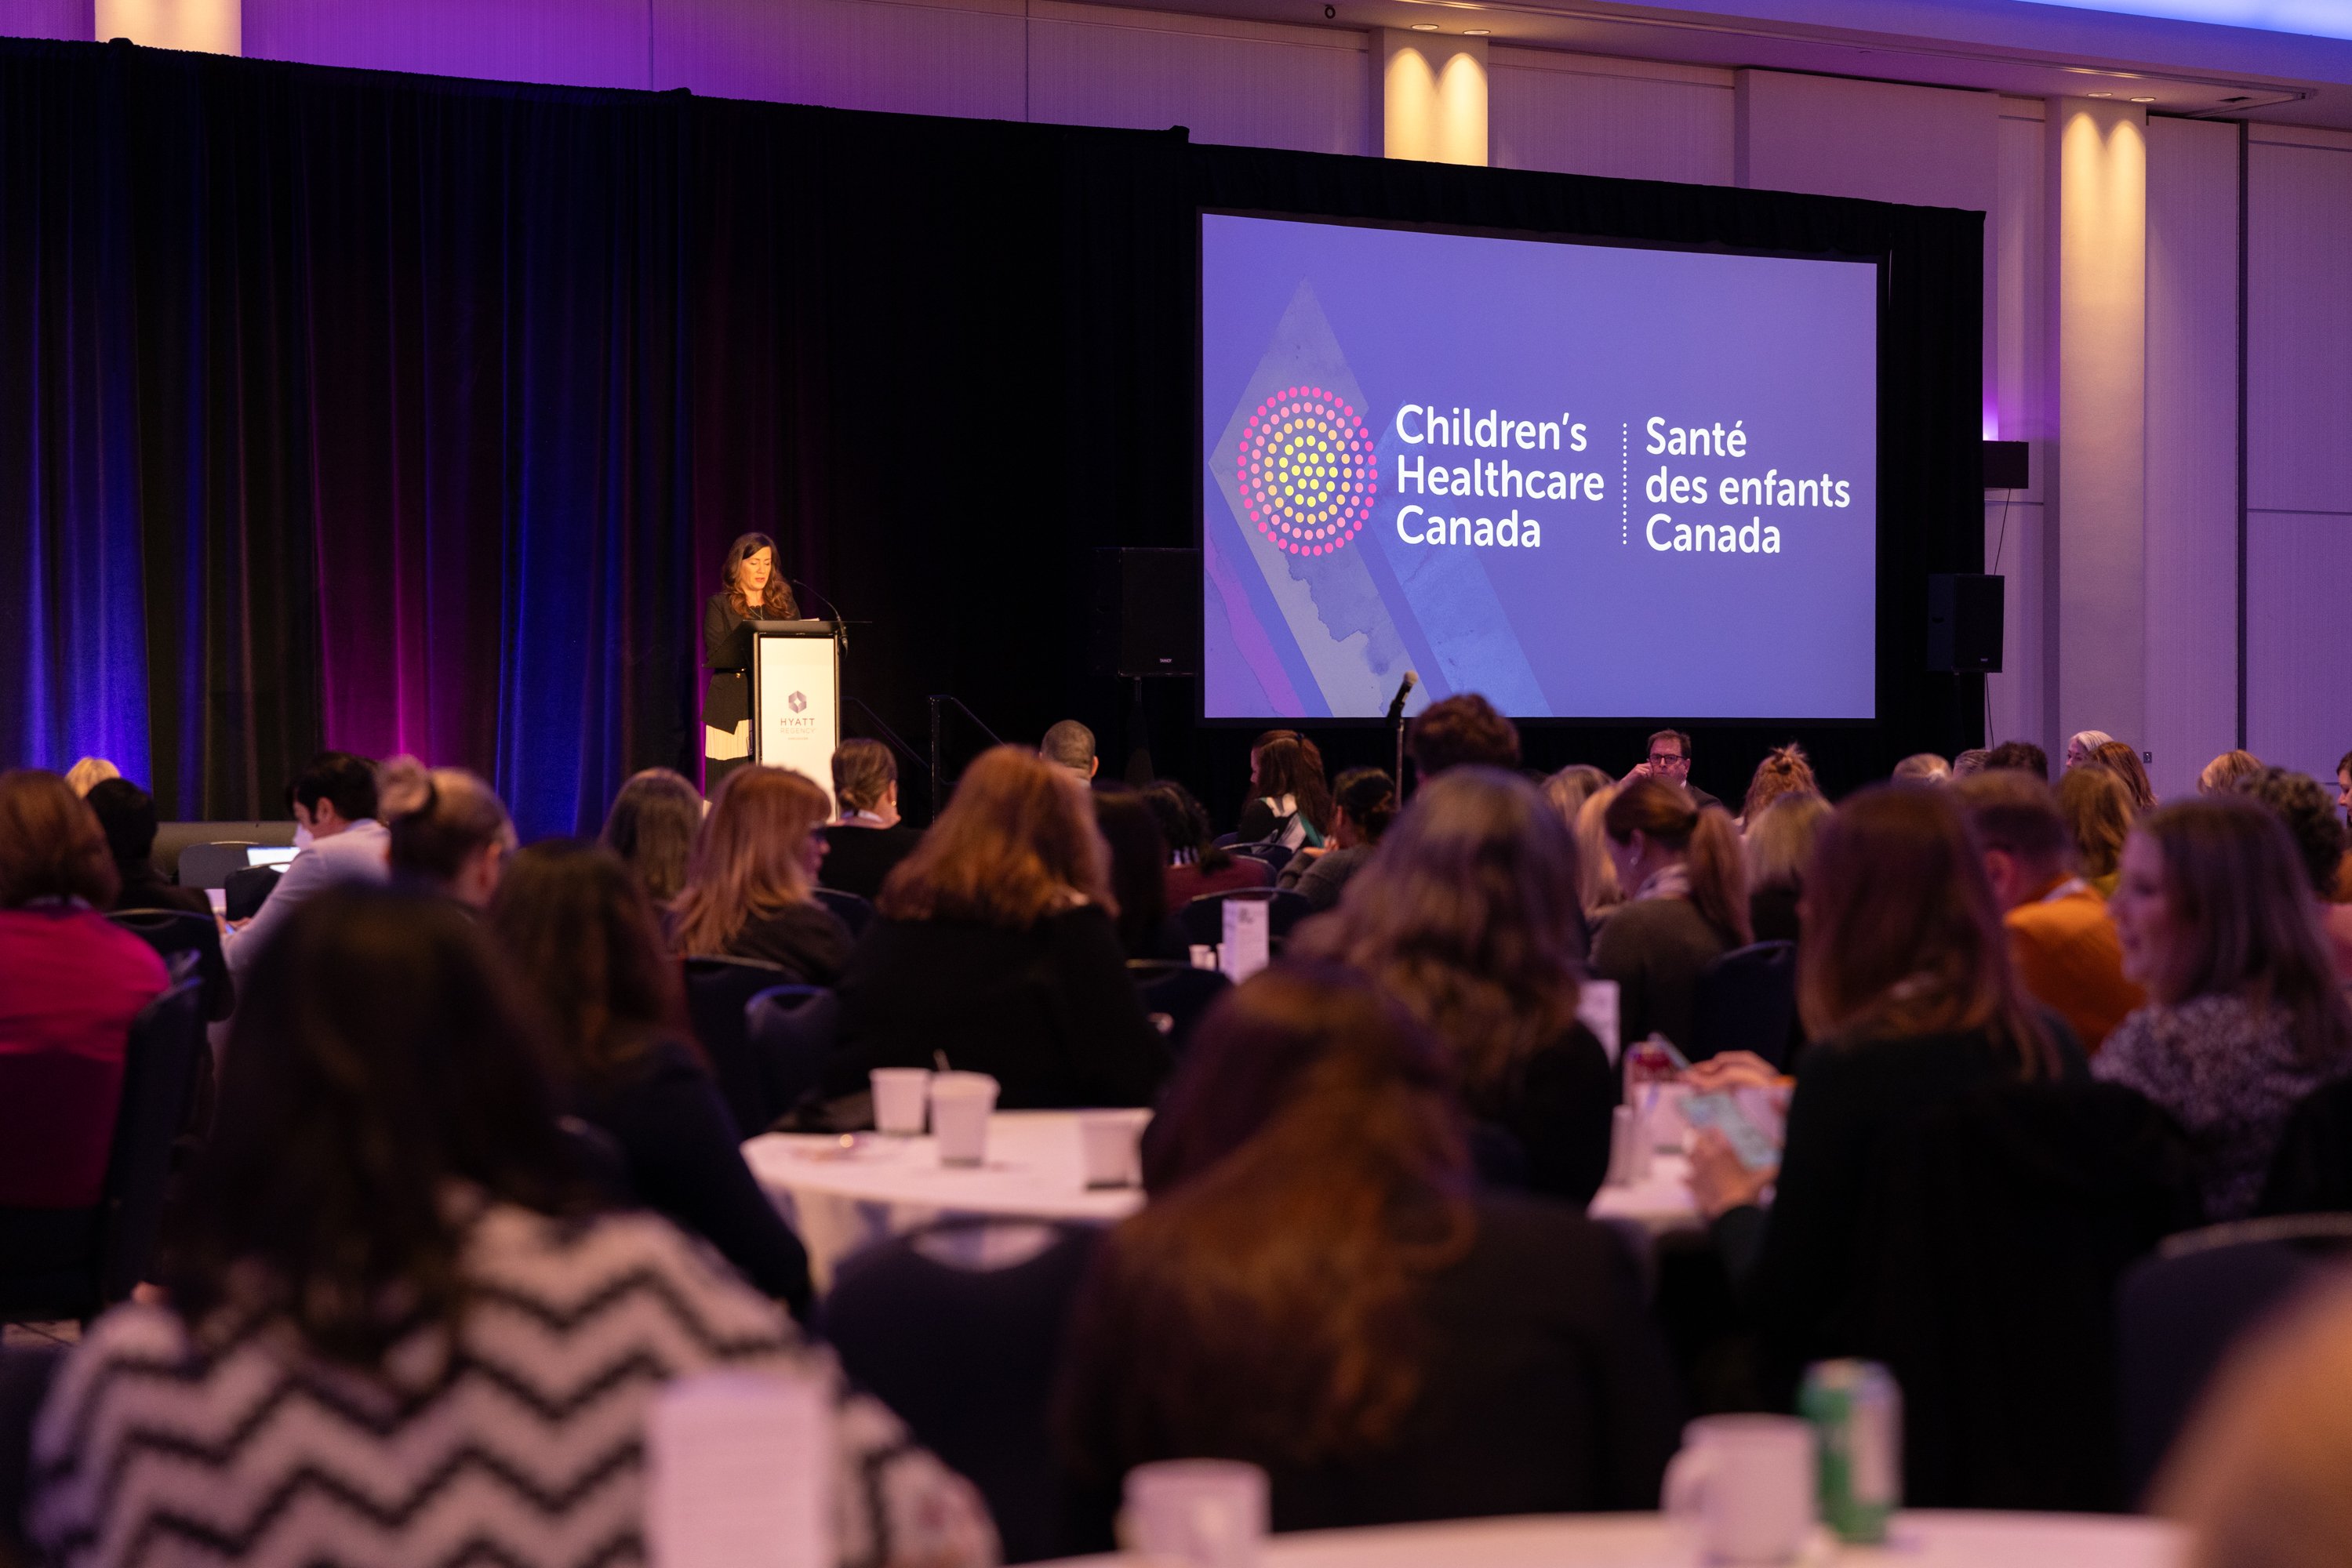
[[[1364, 418], [1378, 496], [1329, 555], [1247, 522], [1235, 449], [1287, 388]], [[1406, 444], [1397, 409], [1585, 425], [1585, 451]], [[1646, 421], [1748, 433], [1653, 456]], [[1204, 715], [1376, 717], [1484, 691], [1517, 717], [1872, 719], [1877, 268], [1202, 216]], [[1599, 473], [1602, 501], [1399, 494], [1397, 456]], [[1651, 503], [1646, 477], [1705, 475]], [[1722, 505], [1724, 477], [1844, 480], [1846, 508]], [[1397, 510], [1538, 517], [1543, 543], [1425, 545]], [[1780, 529], [1778, 555], [1675, 552], [1651, 517]], [[1418, 531], [1418, 522], [1409, 522]]]

